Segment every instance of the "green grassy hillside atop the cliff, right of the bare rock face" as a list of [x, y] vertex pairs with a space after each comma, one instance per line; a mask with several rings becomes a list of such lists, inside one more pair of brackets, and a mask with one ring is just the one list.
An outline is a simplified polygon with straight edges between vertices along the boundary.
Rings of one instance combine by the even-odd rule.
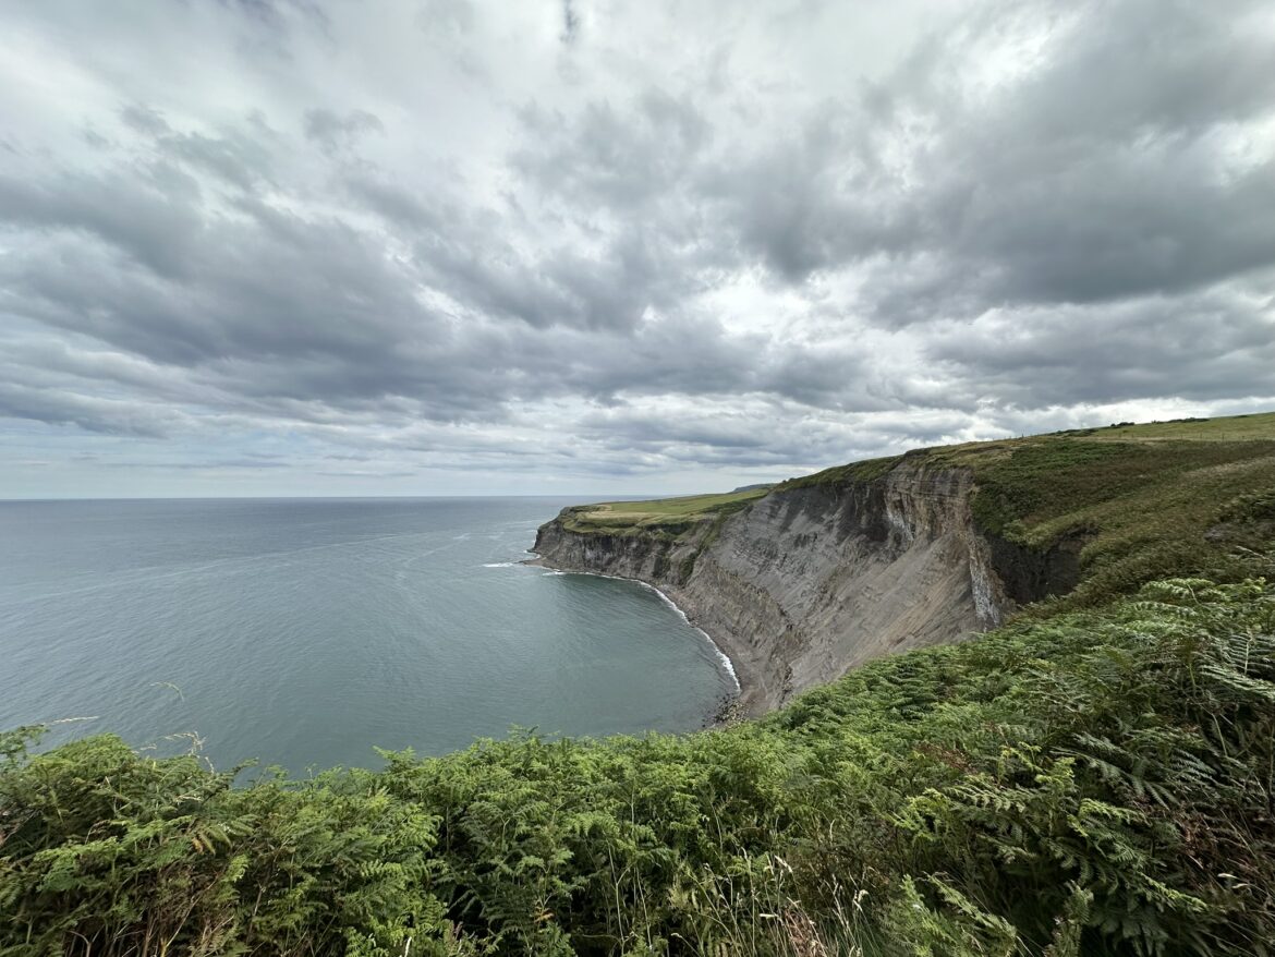
[[974, 519], [987, 533], [1042, 554], [1079, 540], [1082, 577], [1072, 606], [1202, 567], [1234, 578], [1242, 572], [1224, 568], [1227, 555], [1275, 535], [1253, 499], [1275, 494], [1270, 412], [922, 449], [779, 487], [871, 481], [900, 466], [969, 470]]

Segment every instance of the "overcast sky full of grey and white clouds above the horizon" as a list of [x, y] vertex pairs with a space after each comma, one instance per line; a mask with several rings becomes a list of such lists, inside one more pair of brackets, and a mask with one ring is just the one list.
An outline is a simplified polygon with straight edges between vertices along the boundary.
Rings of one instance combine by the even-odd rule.
[[0, 0], [0, 498], [1272, 410], [1272, 63], [1266, 0]]

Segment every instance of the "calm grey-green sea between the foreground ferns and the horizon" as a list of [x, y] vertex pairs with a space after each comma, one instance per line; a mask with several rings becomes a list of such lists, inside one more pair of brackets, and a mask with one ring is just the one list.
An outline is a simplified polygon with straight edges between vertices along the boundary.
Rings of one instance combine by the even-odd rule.
[[701, 727], [734, 681], [676, 609], [519, 564], [570, 501], [0, 501], [0, 729], [305, 775]]

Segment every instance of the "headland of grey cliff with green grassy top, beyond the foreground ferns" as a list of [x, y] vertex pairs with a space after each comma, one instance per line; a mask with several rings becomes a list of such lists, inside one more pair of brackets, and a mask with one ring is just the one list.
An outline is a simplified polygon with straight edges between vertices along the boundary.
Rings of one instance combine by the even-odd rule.
[[1264, 413], [921, 449], [773, 487], [571, 507], [533, 551], [668, 595], [731, 656], [751, 716], [1046, 596], [1080, 586], [1098, 604], [1220, 556], [1261, 531], [1234, 516], [1258, 508], [1239, 493], [1275, 484], [1272, 436]]

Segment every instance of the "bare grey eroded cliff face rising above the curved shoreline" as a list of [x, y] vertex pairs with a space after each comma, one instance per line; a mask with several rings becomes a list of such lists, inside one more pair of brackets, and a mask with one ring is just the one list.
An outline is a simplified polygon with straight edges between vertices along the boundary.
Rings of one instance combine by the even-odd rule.
[[872, 658], [959, 641], [1012, 600], [970, 518], [970, 478], [907, 461], [886, 475], [779, 489], [678, 537], [542, 526], [541, 563], [666, 592], [731, 656], [757, 715]]

